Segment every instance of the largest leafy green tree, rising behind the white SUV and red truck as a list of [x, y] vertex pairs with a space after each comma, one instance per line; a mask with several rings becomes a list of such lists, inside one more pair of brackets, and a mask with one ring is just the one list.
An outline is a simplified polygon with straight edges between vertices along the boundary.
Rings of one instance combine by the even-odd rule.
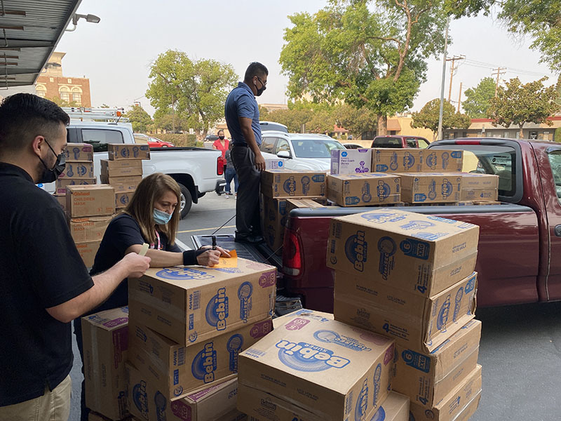
[[442, 51], [446, 17], [438, 0], [370, 3], [331, 0], [314, 15], [289, 16], [280, 64], [291, 98], [370, 109], [385, 134], [388, 114], [412, 107], [426, 59]]

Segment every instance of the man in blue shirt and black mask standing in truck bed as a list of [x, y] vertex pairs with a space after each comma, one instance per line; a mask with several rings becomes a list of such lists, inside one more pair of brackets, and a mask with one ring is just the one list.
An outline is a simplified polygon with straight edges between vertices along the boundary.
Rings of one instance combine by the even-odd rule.
[[230, 131], [231, 159], [238, 174], [238, 201], [236, 202], [236, 241], [260, 243], [259, 222], [260, 171], [265, 169], [259, 145], [259, 107], [256, 96], [265, 91], [269, 70], [259, 62], [252, 62], [245, 70], [243, 82], [229, 93], [224, 115]]

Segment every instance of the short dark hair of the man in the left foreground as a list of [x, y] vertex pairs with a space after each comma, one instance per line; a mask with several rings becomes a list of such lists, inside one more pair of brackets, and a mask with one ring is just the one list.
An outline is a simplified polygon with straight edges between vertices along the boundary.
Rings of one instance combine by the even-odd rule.
[[23, 149], [37, 135], [52, 137], [70, 117], [53, 101], [32, 93], [16, 93], [0, 105], [0, 153]]

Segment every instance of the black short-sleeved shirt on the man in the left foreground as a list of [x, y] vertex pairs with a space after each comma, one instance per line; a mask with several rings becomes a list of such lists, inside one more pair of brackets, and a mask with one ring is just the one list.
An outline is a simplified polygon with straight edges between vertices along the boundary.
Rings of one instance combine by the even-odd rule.
[[70, 323], [46, 308], [93, 286], [62, 208], [18, 166], [0, 163], [0, 406], [42, 396], [72, 368]]

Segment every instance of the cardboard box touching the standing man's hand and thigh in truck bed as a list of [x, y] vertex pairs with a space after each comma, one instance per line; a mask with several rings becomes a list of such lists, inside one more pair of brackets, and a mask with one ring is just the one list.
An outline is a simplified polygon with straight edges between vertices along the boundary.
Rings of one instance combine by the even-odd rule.
[[321, 171], [266, 170], [261, 172], [261, 192], [268, 197], [325, 196]]

